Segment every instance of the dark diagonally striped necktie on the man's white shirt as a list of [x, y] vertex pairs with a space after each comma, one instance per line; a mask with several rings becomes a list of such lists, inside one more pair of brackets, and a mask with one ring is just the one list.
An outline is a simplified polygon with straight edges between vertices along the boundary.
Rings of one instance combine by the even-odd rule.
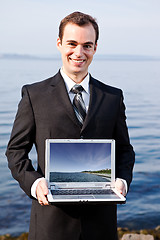
[[73, 108], [81, 126], [83, 125], [86, 116], [86, 108], [82, 98], [83, 90], [84, 89], [81, 85], [74, 85], [71, 89], [71, 92], [75, 94], [73, 99]]

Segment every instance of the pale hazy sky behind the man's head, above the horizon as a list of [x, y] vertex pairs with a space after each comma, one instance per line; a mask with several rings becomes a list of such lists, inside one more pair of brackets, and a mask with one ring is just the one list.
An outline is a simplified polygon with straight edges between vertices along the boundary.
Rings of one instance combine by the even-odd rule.
[[0, 0], [0, 53], [58, 54], [59, 22], [73, 11], [97, 19], [98, 54], [160, 56], [159, 0]]

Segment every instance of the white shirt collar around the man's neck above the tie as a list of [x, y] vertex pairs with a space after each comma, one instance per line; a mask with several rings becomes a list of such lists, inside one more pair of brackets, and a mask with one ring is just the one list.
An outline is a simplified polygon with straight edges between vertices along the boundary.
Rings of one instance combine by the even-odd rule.
[[[60, 73], [64, 79], [66, 88], [68, 93], [70, 92], [70, 90], [72, 89], [72, 87], [76, 84], [71, 78], [69, 78], [67, 76], [66, 73], [64, 73], [63, 69], [60, 69]], [[90, 74], [88, 73], [87, 76], [83, 79], [83, 81], [79, 84], [83, 87], [83, 89], [85, 90], [85, 92], [87, 92], [89, 94], [89, 78], [90, 78]]]

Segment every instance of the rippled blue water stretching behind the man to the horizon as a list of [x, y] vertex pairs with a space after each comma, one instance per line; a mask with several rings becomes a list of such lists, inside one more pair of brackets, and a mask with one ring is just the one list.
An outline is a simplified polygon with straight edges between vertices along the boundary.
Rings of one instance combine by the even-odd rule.
[[[60, 61], [0, 60], [0, 235], [28, 231], [30, 199], [12, 179], [4, 155], [22, 85], [54, 75]], [[127, 204], [118, 207], [118, 225], [153, 228], [160, 224], [160, 62], [98, 61], [90, 72], [122, 88], [127, 123], [136, 152]], [[36, 154], [30, 156], [36, 167]]]

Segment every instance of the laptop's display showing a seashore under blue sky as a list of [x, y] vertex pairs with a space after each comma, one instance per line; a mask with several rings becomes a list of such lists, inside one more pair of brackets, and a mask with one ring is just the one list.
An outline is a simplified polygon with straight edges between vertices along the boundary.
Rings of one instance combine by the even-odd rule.
[[50, 182], [111, 181], [111, 143], [50, 143]]

